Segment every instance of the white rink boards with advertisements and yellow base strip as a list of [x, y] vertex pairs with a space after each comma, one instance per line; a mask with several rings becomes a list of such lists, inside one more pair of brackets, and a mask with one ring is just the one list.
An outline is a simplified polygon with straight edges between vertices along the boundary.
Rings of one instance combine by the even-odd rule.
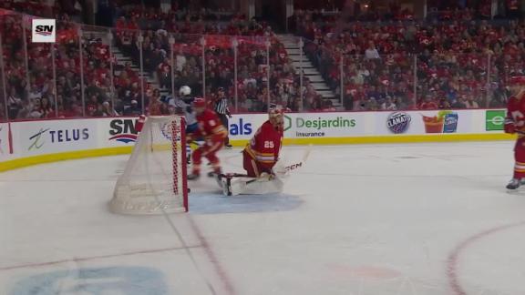
[[[292, 145], [509, 140], [505, 111], [288, 113], [284, 143]], [[266, 114], [233, 115], [232, 145], [244, 146]], [[0, 171], [71, 158], [125, 154], [137, 140], [135, 117], [0, 123]], [[168, 136], [168, 135], [167, 135]]]

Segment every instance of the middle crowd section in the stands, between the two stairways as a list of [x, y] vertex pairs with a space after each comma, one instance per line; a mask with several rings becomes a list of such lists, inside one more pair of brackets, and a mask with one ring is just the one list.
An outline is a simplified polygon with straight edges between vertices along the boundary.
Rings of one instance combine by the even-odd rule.
[[[204, 91], [204, 96], [212, 99], [218, 87], [225, 88], [230, 97], [235, 96], [236, 88], [239, 111], [263, 111], [268, 97], [273, 103], [298, 110], [298, 73], [269, 25], [246, 20], [243, 15], [232, 15], [228, 23], [205, 22], [206, 19], [205, 11], [180, 18], [177, 14], [129, 10], [118, 19], [117, 43], [139, 63], [136, 30], [143, 29], [144, 68], [158, 77], [161, 87], [171, 89], [172, 49], [175, 89], [188, 85], [194, 95], [201, 96]], [[238, 44], [237, 81], [234, 81], [232, 36], [236, 36]], [[175, 41], [172, 48], [170, 37]], [[269, 56], [267, 42], [270, 42]]]

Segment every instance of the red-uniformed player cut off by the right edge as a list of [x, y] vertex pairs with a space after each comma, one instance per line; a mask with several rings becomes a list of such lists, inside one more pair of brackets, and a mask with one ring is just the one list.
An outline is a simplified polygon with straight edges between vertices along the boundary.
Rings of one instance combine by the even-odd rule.
[[505, 117], [505, 132], [518, 134], [514, 147], [514, 176], [507, 185], [507, 189], [520, 188], [521, 181], [525, 180], [525, 76], [510, 78], [512, 97], [507, 104]]

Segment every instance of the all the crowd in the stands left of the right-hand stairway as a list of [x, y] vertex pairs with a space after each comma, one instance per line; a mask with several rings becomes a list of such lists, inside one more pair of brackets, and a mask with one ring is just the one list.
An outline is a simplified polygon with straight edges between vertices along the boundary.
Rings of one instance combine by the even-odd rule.
[[[160, 107], [153, 107], [154, 112], [170, 113], [173, 111], [168, 104], [171, 97], [162, 97], [159, 89], [155, 89], [155, 86], [159, 86], [171, 92], [170, 50], [173, 50], [174, 57], [173, 88], [176, 95], [180, 86], [188, 85], [193, 89], [194, 96], [205, 95], [212, 100], [216, 89], [224, 87], [230, 97], [234, 97], [232, 36], [237, 36], [239, 44], [236, 82], [238, 107], [232, 106], [232, 109], [264, 111], [268, 97], [273, 103], [298, 109], [300, 91], [297, 72], [268, 25], [255, 20], [245, 21], [242, 17], [235, 17], [229, 23], [206, 25], [191, 21], [170, 23], [168, 19], [159, 18], [159, 15], [151, 16], [148, 10], [142, 14], [127, 12], [126, 16], [118, 19], [112, 31], [115, 45], [125, 56], [131, 57], [131, 62], [125, 64], [118, 64], [111, 57], [109, 42], [104, 35], [84, 31], [79, 36], [77, 25], [70, 23], [67, 18], [60, 20], [57, 25], [57, 44], [54, 46], [56, 85], [53, 67], [50, 66], [51, 46], [31, 43], [30, 32], [26, 30], [26, 51], [21, 38], [22, 16], [13, 14], [0, 17], [0, 30], [8, 32], [3, 42], [8, 116], [13, 119], [134, 115], [140, 113], [142, 108], [151, 113], [149, 107], [155, 104], [160, 104]], [[204, 34], [210, 34], [210, 37], [205, 38], [206, 44], [202, 50], [201, 37]], [[141, 44], [138, 42], [139, 35], [143, 37]], [[173, 46], [170, 46], [170, 37], [175, 40]], [[80, 38], [83, 41], [81, 47]], [[266, 57], [268, 41], [269, 60]], [[139, 70], [133, 67], [140, 64], [140, 56], [144, 71], [152, 74], [158, 85], [147, 81], [142, 85]], [[113, 75], [111, 66], [114, 68]], [[53, 111], [42, 109], [43, 99], [47, 102], [45, 106], [49, 105], [46, 108]]]

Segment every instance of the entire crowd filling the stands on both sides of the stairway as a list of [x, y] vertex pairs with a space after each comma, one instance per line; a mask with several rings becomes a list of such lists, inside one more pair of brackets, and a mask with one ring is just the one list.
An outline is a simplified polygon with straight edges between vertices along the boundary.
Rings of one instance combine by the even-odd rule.
[[[344, 12], [296, 10], [295, 32], [347, 110], [504, 107], [509, 76], [524, 74], [525, 23], [483, 20], [486, 3], [438, 7], [425, 21], [397, 6], [351, 23], [341, 21]], [[307, 78], [300, 88], [299, 69], [264, 22], [207, 10], [128, 7], [118, 15], [113, 40], [99, 29], [80, 36], [79, 25], [58, 16], [54, 46], [31, 43], [28, 28], [25, 44], [23, 17], [0, 15], [7, 101], [0, 117], [170, 114], [170, 99], [184, 85], [210, 101], [223, 87], [241, 112], [264, 111], [268, 100], [293, 111], [335, 110]], [[111, 56], [111, 42], [131, 61]], [[140, 64], [155, 83], [140, 78]]]

